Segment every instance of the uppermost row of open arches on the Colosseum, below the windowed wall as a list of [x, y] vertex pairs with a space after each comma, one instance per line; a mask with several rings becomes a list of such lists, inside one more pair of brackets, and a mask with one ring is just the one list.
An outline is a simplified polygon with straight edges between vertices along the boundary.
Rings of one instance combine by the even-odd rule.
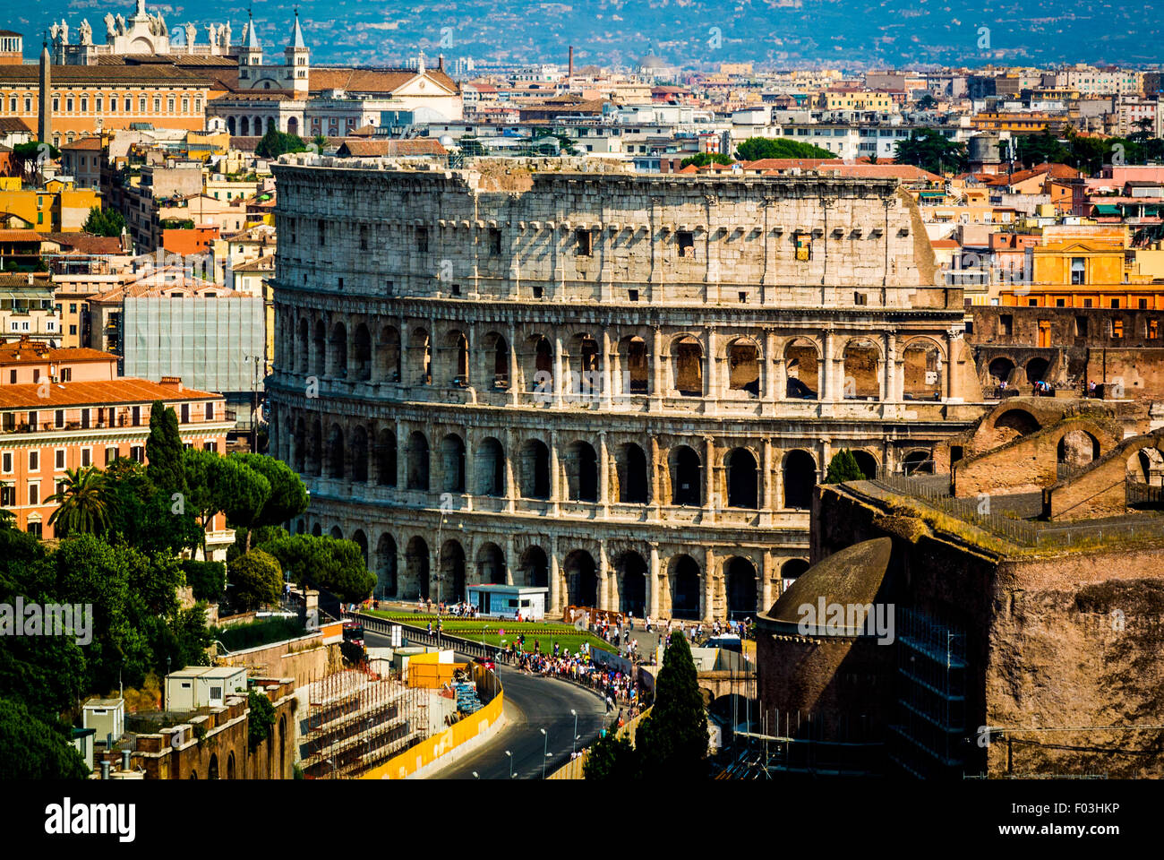
[[[281, 366], [354, 382], [400, 382], [478, 389], [516, 388], [561, 396], [647, 395], [675, 393], [702, 397], [717, 390], [739, 397], [760, 397], [766, 374], [783, 378], [783, 390], [773, 379], [774, 396], [817, 400], [829, 368], [818, 344], [793, 337], [779, 350], [779, 369], [766, 364], [760, 343], [751, 336], [726, 340], [716, 351], [723, 362], [722, 381], [709, 379], [704, 340], [691, 333], [668, 336], [648, 344], [640, 334], [605, 341], [602, 334], [579, 331], [565, 338], [542, 333], [517, 334], [490, 330], [473, 344], [471, 332], [457, 327], [433, 334], [428, 325], [382, 325], [374, 331], [359, 322], [349, 331], [342, 320], [329, 326], [321, 318], [296, 324], [294, 354]], [[609, 351], [609, 355], [604, 353]], [[943, 353], [935, 340], [915, 337], [901, 351], [902, 395], [939, 397], [943, 392]], [[883, 350], [871, 338], [847, 339], [839, 350], [844, 399], [882, 396]], [[890, 396], [893, 396], [890, 392]]]

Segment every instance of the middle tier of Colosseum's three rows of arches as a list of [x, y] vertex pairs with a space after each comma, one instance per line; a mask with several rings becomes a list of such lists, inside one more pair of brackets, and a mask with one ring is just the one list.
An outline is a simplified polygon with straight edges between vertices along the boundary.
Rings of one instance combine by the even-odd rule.
[[[652, 480], [651, 454], [643, 446], [633, 442], [612, 446], [608, 453], [604, 495], [598, 449], [584, 439], [569, 442], [558, 456], [555, 496], [554, 457], [549, 445], [537, 437], [521, 440], [508, 454], [499, 438], [487, 436], [475, 443], [470, 453], [459, 432], [436, 433], [431, 443], [421, 430], [412, 430], [398, 439], [395, 424], [379, 429], [356, 424], [346, 429], [332, 423], [326, 435], [324, 428], [319, 416], [296, 418], [286, 459], [300, 474], [495, 498], [694, 507], [710, 501], [705, 453], [686, 444], [660, 450], [666, 467], [661, 470], [658, 488]], [[857, 456], [859, 465], [872, 475], [876, 470], [873, 456], [864, 451]], [[724, 452], [717, 465], [718, 480], [712, 481], [712, 492], [722, 495], [723, 505], [743, 509], [768, 507], [760, 459], [759, 452], [747, 446]], [[779, 471], [781, 498], [773, 500], [772, 507], [811, 507], [818, 477], [816, 456], [803, 449], [787, 451]], [[658, 499], [653, 498], [655, 493]]]

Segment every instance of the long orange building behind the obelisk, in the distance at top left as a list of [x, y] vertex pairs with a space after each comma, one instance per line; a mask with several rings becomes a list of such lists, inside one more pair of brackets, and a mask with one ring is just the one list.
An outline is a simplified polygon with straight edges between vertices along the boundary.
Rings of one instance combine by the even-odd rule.
[[[212, 83], [168, 64], [54, 65], [52, 144], [147, 122], [201, 131]], [[37, 127], [40, 66], [0, 64], [0, 118]], [[100, 125], [98, 125], [100, 122]]]

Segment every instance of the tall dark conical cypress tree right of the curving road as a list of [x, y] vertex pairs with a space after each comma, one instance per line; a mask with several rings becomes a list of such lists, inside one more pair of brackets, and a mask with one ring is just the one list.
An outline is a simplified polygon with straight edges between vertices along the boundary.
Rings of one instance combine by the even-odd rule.
[[705, 777], [707, 714], [684, 636], [672, 635], [655, 690], [654, 705], [636, 734], [644, 778], [687, 782]]

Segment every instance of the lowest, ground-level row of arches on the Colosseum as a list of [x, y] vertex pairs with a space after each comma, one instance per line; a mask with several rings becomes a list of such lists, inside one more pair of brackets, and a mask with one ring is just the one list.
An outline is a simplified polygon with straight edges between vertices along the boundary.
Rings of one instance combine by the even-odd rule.
[[[305, 528], [305, 521], [300, 520], [298, 529]], [[312, 533], [322, 534], [322, 527], [317, 522]], [[333, 526], [329, 534], [335, 538], [343, 537], [339, 526]], [[510, 569], [505, 551], [489, 541], [477, 547], [469, 557], [455, 537], [440, 540], [439, 551], [436, 542], [430, 543], [423, 535], [412, 535], [398, 542], [385, 531], [371, 548], [363, 529], [355, 529], [349, 540], [360, 547], [369, 569], [375, 571], [375, 593], [382, 598], [421, 597], [456, 601], [464, 599], [469, 585], [551, 587], [553, 565], [547, 551], [538, 544], [524, 549], [516, 559], [516, 566]], [[369, 555], [370, 549], [372, 555]], [[805, 559], [793, 558], [783, 562], [779, 573], [782, 579], [795, 579], [807, 569]], [[719, 565], [718, 572], [723, 577], [723, 599], [729, 615], [739, 618], [764, 608], [760, 605], [762, 588], [752, 559], [732, 556]], [[665, 593], [658, 598], [659, 611], [681, 619], [705, 616], [704, 572], [693, 556], [672, 556], [660, 565], [660, 576], [665, 579]], [[638, 551], [624, 550], [612, 556], [605, 600], [599, 565], [590, 551], [574, 549], [562, 556], [559, 577], [562, 605], [617, 609], [639, 618], [651, 611], [650, 564]]]

